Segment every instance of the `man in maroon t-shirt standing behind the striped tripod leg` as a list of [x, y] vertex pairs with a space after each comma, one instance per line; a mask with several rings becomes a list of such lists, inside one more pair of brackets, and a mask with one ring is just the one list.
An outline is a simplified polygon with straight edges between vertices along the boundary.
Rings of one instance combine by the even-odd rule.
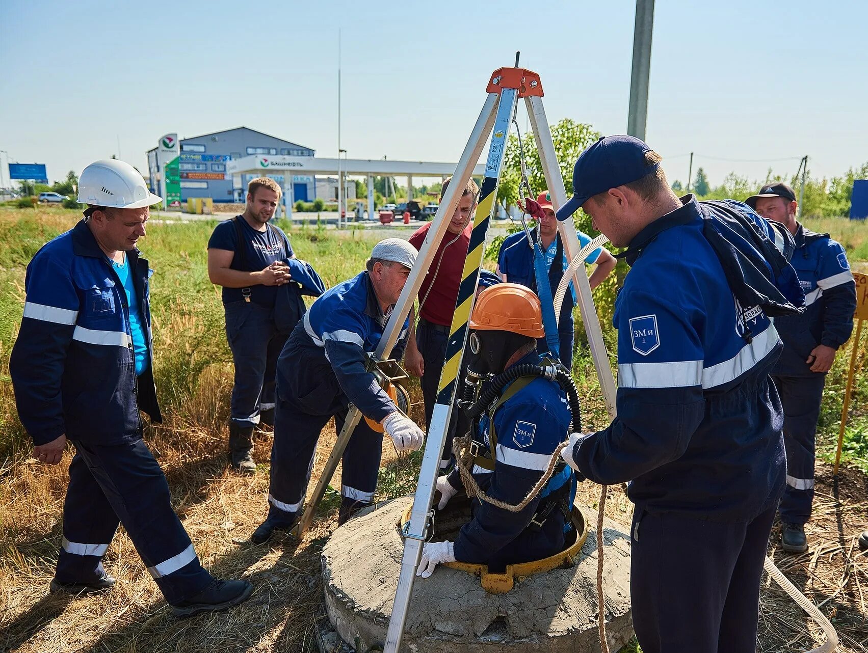
[[[450, 180], [445, 180], [440, 198], [443, 199]], [[452, 215], [443, 240], [437, 245], [437, 251], [422, 280], [419, 290], [418, 325], [410, 325], [410, 337], [407, 340], [407, 350], [404, 354], [404, 366], [411, 375], [422, 379], [422, 395], [425, 402], [426, 429], [431, 428], [431, 413], [437, 402], [437, 385], [440, 382], [440, 371], [446, 358], [446, 343], [449, 340], [449, 330], [452, 324], [452, 313], [455, 312], [455, 302], [458, 297], [458, 285], [461, 284], [461, 273], [464, 271], [464, 258], [470, 245], [470, 220], [476, 209], [478, 192], [477, 184], [470, 179], [464, 187], [464, 193], [458, 202], [458, 207]], [[410, 237], [410, 244], [417, 250], [422, 249], [431, 222], [419, 227]], [[480, 287], [496, 283], [496, 277], [483, 272]], [[462, 366], [459, 384], [464, 380]], [[459, 387], [461, 387], [459, 385]], [[454, 409], [450, 420], [449, 433], [443, 450], [444, 459], [440, 467], [448, 467], [452, 452], [452, 438], [458, 428], [467, 430], [468, 424], [464, 414]]]

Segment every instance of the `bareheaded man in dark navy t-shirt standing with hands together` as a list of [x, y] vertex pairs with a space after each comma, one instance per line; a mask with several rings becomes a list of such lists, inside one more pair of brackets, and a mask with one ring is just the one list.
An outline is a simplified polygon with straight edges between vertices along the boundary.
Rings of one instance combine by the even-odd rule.
[[220, 223], [208, 240], [208, 278], [223, 286], [226, 335], [235, 365], [229, 451], [233, 469], [253, 473], [253, 428], [273, 425], [274, 375], [288, 334], [274, 324], [278, 286], [294, 258], [286, 234], [270, 225], [280, 186], [267, 177], [247, 186], [244, 214]]

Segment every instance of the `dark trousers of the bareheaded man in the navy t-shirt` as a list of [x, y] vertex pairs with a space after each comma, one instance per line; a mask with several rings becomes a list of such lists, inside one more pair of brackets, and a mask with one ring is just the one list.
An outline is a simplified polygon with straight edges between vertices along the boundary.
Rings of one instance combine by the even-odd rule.
[[274, 408], [274, 374], [287, 336], [274, 326], [273, 308], [255, 302], [225, 304], [226, 336], [235, 366], [231, 419], [242, 428]]

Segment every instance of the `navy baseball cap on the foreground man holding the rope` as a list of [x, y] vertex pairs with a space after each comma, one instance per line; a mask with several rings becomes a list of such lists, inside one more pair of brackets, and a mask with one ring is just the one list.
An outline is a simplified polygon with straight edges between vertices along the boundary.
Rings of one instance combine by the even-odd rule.
[[568, 219], [598, 193], [639, 180], [653, 173], [659, 163], [645, 163], [648, 143], [634, 136], [602, 136], [579, 154], [573, 168], [573, 196], [557, 210], [557, 219]]

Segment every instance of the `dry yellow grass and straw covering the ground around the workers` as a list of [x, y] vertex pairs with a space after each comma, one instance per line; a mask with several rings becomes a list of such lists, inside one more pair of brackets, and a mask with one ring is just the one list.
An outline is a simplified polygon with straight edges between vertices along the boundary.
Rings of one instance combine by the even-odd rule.
[[[319, 552], [337, 526], [337, 502], [333, 494], [326, 496], [304, 543], [279, 536], [270, 545], [247, 544], [250, 532], [266, 513], [270, 436], [262, 435], [257, 443], [260, 473], [250, 479], [227, 472], [223, 452], [231, 363], [220, 333], [219, 297], [209, 284], [201, 283], [203, 253], [190, 242], [190, 233], [201, 239], [201, 225], [183, 227], [187, 232], [177, 226], [149, 232], [146, 249], [161, 275], [160, 283], [155, 284], [155, 300], [163, 302], [155, 310], [161, 353], [158, 368], [166, 381], [161, 390], [168, 393], [162, 397], [164, 405], [171, 410], [166, 424], [148, 429], [147, 441], [167, 473], [174, 506], [203, 563], [222, 578], [249, 579], [255, 588], [253, 597], [217, 615], [187, 620], [172, 617], [122, 529], [106, 560], [107, 568], [118, 578], [113, 591], [93, 597], [49, 595], [71, 454], [57, 467], [43, 467], [27, 458], [4, 366], [20, 317], [23, 264], [53, 235], [52, 230], [62, 231], [75, 221], [68, 213], [46, 212], [38, 221], [22, 223], [18, 213], [0, 212], [0, 242], [14, 247], [0, 250], [0, 314], [9, 317], [0, 321], [0, 434], [7, 434], [11, 452], [0, 458], [0, 652], [317, 650], [313, 632], [322, 618]], [[305, 243], [299, 234], [301, 245]], [[311, 238], [304, 258], [319, 256], [316, 264], [325, 266], [329, 248], [337, 245], [343, 253], [340, 263], [347, 269], [358, 269], [357, 258], [367, 246], [349, 240], [320, 245]], [[343, 269], [329, 272], [335, 278], [349, 276]], [[580, 366], [576, 375], [585, 400], [585, 427], [602, 428], [604, 408], [589, 364]], [[418, 389], [413, 396], [418, 402]], [[421, 419], [420, 408], [414, 407], [417, 419]], [[332, 426], [327, 427], [314, 480], [334, 437]], [[391, 445], [384, 448], [380, 481], [384, 498], [410, 491], [417, 462], [397, 460]], [[771, 551], [786, 575], [812, 600], [825, 601], [822, 610], [838, 627], [841, 650], [866, 653], [868, 558], [858, 554], [854, 542], [868, 526], [868, 486], [862, 473], [846, 470], [836, 487], [828, 467], [822, 466], [818, 467], [818, 483], [816, 516], [808, 526], [811, 552], [791, 557], [774, 545]], [[339, 486], [339, 477], [332, 485]], [[598, 498], [597, 486], [582, 484], [580, 501], [595, 507]], [[608, 516], [628, 523], [631, 512], [622, 488], [611, 488]], [[776, 586], [766, 584], [759, 650], [806, 650], [817, 644], [812, 633], [816, 628], [799, 608]]]

